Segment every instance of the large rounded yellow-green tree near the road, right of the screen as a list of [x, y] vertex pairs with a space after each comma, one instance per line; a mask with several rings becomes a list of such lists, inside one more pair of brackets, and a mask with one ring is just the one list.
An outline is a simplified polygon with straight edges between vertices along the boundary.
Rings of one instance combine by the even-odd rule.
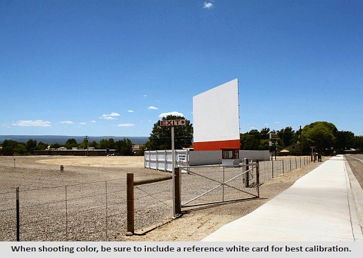
[[324, 153], [335, 146], [337, 128], [333, 123], [326, 121], [317, 121], [310, 123], [301, 131], [302, 148], [308, 152], [310, 147], [315, 146], [319, 152]]

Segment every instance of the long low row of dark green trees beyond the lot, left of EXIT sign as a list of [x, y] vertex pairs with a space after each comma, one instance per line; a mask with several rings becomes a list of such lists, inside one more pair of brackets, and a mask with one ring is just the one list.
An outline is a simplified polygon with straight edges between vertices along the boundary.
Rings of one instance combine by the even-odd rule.
[[81, 143], [77, 143], [77, 141], [72, 138], [68, 139], [65, 144], [53, 143], [50, 145], [42, 141], [37, 142], [34, 139], [29, 139], [26, 143], [14, 140], [4, 140], [3, 143], [0, 144], [0, 152], [4, 155], [31, 155], [35, 150], [59, 149], [62, 147], [67, 150], [71, 150], [72, 148], [86, 150], [87, 145], [95, 148], [95, 150], [109, 149], [116, 150], [119, 155], [133, 155], [133, 143], [128, 138], [119, 141], [115, 141], [113, 138], [102, 139], [100, 142], [88, 141], [88, 139], [84, 138]]

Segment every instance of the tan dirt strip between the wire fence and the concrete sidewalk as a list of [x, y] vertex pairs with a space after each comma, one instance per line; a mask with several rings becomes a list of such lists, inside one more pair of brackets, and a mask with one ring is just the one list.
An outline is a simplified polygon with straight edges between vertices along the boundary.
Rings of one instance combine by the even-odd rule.
[[309, 163], [307, 166], [263, 183], [260, 187], [260, 199], [234, 201], [187, 210], [179, 218], [154, 228], [150, 232], [129, 237], [129, 241], [200, 241], [221, 226], [248, 215], [321, 164]]

